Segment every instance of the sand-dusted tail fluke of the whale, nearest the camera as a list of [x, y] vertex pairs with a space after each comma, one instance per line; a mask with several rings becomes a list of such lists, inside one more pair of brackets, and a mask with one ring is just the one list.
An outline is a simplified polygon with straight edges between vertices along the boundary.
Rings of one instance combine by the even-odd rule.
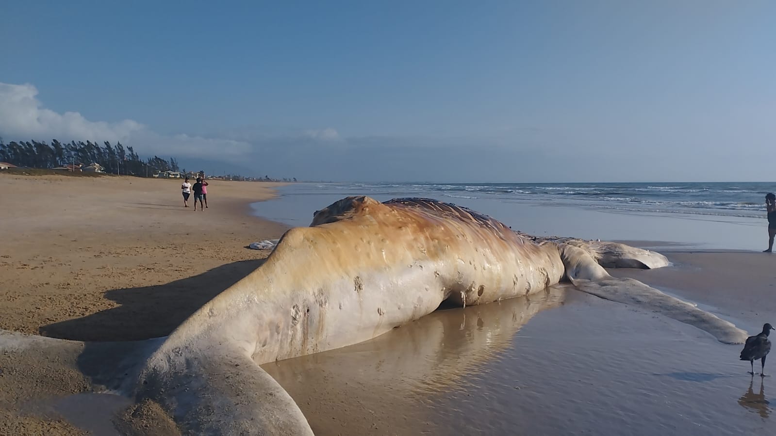
[[154, 355], [135, 397], [161, 404], [185, 434], [313, 436], [299, 406], [244, 350], [219, 344]]

